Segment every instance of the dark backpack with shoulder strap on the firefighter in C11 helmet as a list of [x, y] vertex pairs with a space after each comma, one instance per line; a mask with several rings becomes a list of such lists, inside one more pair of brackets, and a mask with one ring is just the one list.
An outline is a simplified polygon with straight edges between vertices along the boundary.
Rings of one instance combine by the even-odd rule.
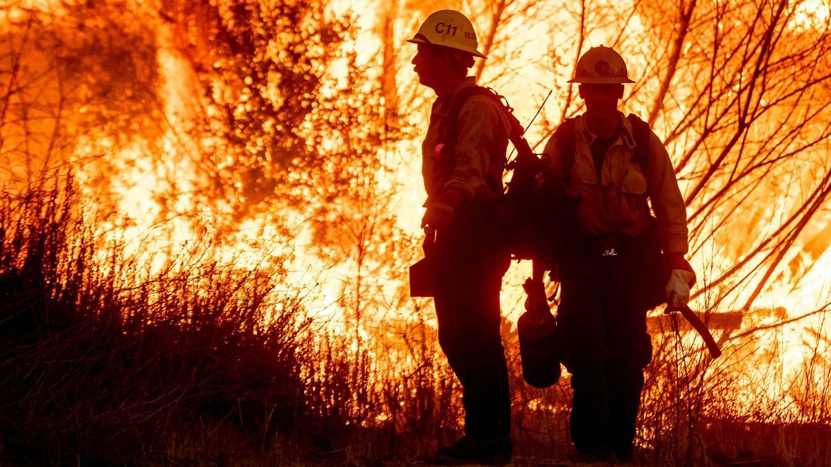
[[[439, 130], [438, 143], [451, 150], [458, 138], [458, 120], [462, 106], [472, 96], [487, 96], [499, 104], [509, 120], [509, 140], [517, 151], [514, 160], [505, 165], [505, 171], [513, 172], [507, 189], [498, 194], [492, 216], [494, 223], [501, 224], [506, 243], [515, 259], [548, 259], [556, 255], [558, 244], [553, 241], [552, 232], [559, 232], [564, 210], [576, 209], [573, 199], [558, 195], [547, 189], [543, 180], [550, 172], [548, 165], [538, 158], [524, 138], [524, 128], [514, 116], [504, 96], [484, 86], [469, 86], [461, 90], [450, 102], [450, 110]], [[489, 174], [490, 176], [490, 174]], [[488, 180], [489, 186], [496, 180]], [[501, 186], [501, 177], [498, 180]]]

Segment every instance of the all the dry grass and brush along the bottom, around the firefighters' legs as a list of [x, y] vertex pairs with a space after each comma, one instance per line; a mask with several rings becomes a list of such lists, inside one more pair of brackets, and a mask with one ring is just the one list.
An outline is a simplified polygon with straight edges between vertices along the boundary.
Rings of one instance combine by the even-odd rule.
[[[0, 203], [3, 465], [401, 465], [460, 434], [429, 302], [336, 332], [278, 292], [279, 271], [231, 268], [205, 246], [155, 273], [117, 244], [101, 256], [71, 179]], [[793, 385], [752, 414], [737, 394], [765, 388], [738, 390], [740, 351], [711, 363], [697, 342], [656, 337], [637, 462], [829, 465], [829, 342], [815, 334]], [[503, 336], [514, 463], [563, 463], [568, 376], [527, 386], [507, 321]]]

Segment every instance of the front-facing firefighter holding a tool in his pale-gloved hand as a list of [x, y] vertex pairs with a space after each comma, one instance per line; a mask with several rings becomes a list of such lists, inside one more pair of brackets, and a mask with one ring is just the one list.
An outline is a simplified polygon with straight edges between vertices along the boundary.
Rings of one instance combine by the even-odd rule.
[[555, 186], [579, 200], [571, 219], [579, 234], [563, 248], [556, 278], [559, 356], [574, 390], [571, 439], [579, 460], [626, 462], [652, 359], [647, 311], [664, 298], [655, 299], [654, 284], [677, 307], [695, 280], [684, 259], [686, 208], [661, 140], [617, 110], [624, 83], [634, 82], [622, 57], [593, 47], [568, 82], [578, 83], [586, 110], [560, 125], [544, 157]]

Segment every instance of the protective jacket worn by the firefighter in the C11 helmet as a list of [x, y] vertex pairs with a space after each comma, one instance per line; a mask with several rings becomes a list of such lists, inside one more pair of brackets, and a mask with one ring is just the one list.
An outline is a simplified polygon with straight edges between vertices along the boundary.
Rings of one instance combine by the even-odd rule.
[[459, 113], [459, 135], [454, 150], [436, 150], [451, 102], [459, 91], [475, 84], [475, 78], [468, 76], [454, 91], [433, 103], [430, 126], [421, 145], [421, 175], [427, 191], [425, 206], [436, 202], [448, 190], [459, 195], [461, 206], [502, 194], [510, 124], [499, 105], [489, 97], [470, 97]]

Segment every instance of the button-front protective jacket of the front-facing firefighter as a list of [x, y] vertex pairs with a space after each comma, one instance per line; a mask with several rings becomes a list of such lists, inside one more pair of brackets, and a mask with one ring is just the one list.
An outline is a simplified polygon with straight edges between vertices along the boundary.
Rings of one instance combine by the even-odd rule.
[[578, 197], [580, 229], [584, 234], [635, 236], [652, 226], [647, 196], [657, 218], [656, 233], [664, 253], [688, 250], [686, 208], [678, 189], [669, 155], [661, 140], [650, 131], [646, 174], [635, 155], [631, 122], [618, 112], [620, 131], [606, 152], [600, 170], [595, 168], [590, 145], [597, 139], [584, 116], [574, 122], [574, 159], [560, 154], [558, 135], [548, 140], [544, 152], [551, 158], [553, 182], [566, 194]]

